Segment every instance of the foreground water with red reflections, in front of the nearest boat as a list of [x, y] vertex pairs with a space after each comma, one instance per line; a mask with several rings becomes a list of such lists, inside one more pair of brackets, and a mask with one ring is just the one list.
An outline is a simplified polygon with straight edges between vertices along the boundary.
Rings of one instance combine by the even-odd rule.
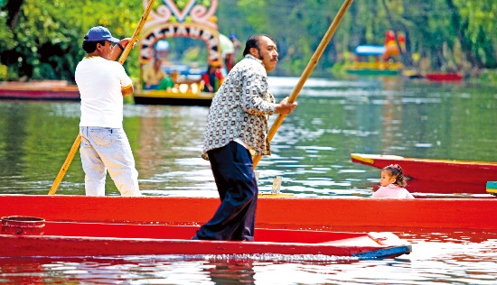
[[413, 252], [359, 261], [323, 255], [159, 255], [0, 259], [0, 281], [126, 284], [492, 284], [497, 234], [399, 233]]

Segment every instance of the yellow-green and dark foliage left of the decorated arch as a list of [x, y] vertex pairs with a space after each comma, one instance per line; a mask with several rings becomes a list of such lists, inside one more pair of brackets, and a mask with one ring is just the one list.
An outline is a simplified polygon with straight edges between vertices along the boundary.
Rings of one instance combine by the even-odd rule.
[[105, 25], [117, 38], [130, 37], [141, 13], [137, 1], [25, 0], [17, 24], [0, 32], [0, 42], [14, 43], [0, 46], [1, 63], [10, 78], [73, 81], [89, 28]]

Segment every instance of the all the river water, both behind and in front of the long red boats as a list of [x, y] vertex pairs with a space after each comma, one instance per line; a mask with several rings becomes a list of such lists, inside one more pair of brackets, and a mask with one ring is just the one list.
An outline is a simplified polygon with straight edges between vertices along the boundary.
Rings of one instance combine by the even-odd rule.
[[[270, 78], [269, 83], [276, 97], [282, 98], [296, 81]], [[286, 117], [273, 140], [273, 155], [258, 165], [260, 188], [270, 190], [279, 175], [282, 191], [295, 196], [369, 197], [380, 173], [352, 163], [352, 152], [497, 161], [497, 152], [492, 152], [497, 141], [496, 91], [497, 87], [464, 83], [309, 79], [295, 113]], [[200, 158], [207, 112], [204, 107], [125, 106], [125, 129], [145, 195], [217, 197], [209, 163]], [[0, 101], [0, 114], [0, 193], [48, 193], [76, 138], [80, 105]], [[84, 194], [83, 184], [77, 154], [57, 194]], [[107, 193], [118, 195], [110, 179]], [[284, 255], [0, 258], [0, 282], [492, 284], [497, 279], [495, 234], [399, 234], [413, 243], [413, 253], [396, 259]]]

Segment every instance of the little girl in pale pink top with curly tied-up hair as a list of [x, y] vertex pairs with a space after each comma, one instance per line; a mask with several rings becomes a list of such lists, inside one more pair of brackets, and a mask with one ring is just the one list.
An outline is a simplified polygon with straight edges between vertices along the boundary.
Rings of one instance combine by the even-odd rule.
[[381, 170], [380, 188], [372, 198], [414, 198], [404, 188], [408, 185], [399, 164], [391, 164]]

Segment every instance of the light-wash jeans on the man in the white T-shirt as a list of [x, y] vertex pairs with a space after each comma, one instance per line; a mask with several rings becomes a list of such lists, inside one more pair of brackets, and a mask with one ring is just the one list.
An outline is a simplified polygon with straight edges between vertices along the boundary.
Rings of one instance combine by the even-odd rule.
[[141, 196], [138, 171], [122, 128], [80, 126], [80, 155], [88, 196], [105, 196], [107, 171], [122, 196]]

